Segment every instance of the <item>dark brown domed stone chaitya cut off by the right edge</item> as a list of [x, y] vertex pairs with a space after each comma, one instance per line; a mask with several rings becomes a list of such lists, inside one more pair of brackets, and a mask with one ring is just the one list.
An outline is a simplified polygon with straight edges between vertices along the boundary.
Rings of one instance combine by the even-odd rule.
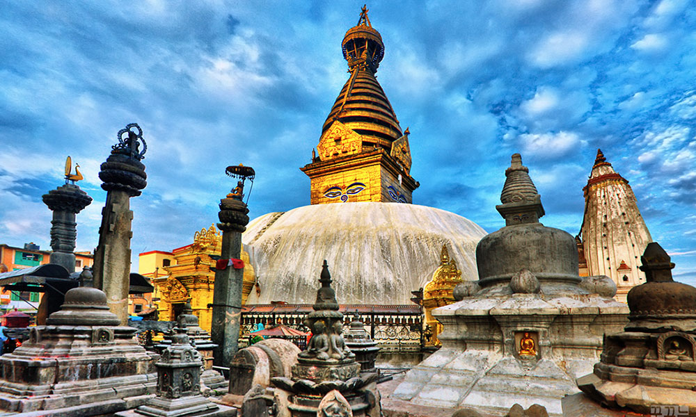
[[658, 414], [672, 404], [696, 416], [696, 288], [672, 279], [674, 263], [658, 243], [640, 260], [646, 282], [628, 293], [628, 325], [606, 337], [601, 361], [578, 386], [610, 408]]

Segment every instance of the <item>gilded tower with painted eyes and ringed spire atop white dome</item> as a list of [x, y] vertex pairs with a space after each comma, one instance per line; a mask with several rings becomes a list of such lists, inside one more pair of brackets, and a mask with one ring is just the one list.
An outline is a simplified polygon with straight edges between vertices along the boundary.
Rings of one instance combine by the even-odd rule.
[[349, 79], [326, 117], [312, 163], [300, 168], [310, 177], [311, 204], [411, 203], [419, 184], [409, 174], [409, 129], [402, 131], [377, 82], [384, 44], [365, 6], [342, 51]]

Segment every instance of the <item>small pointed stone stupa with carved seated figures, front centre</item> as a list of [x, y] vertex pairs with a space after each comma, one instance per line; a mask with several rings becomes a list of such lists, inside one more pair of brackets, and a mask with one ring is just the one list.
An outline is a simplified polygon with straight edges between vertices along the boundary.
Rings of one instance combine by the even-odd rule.
[[317, 291], [314, 311], [305, 320], [313, 333], [307, 349], [297, 355], [292, 379], [271, 378], [276, 386], [278, 416], [328, 416], [333, 414], [326, 410], [342, 409], [346, 404], [354, 417], [380, 416], [379, 391], [374, 382], [377, 373], [360, 373], [360, 363], [341, 336], [343, 314], [338, 311], [326, 261], [319, 281], [322, 286]]

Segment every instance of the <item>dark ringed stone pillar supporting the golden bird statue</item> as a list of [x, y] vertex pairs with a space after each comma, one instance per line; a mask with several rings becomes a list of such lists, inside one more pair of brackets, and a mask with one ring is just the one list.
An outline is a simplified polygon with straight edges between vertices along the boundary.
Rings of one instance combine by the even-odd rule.
[[[74, 183], [50, 190], [43, 195], [43, 202], [53, 211], [51, 222], [51, 263], [65, 267], [72, 274], [75, 272], [75, 239], [77, 238], [77, 222], [75, 215], [92, 202], [92, 197], [80, 190]], [[46, 315], [61, 309], [63, 294], [58, 293], [53, 286], [45, 287]], [[65, 290], [63, 290], [65, 291]], [[42, 316], [45, 318], [45, 316]], [[42, 319], [43, 320], [43, 319]], [[39, 324], [45, 324], [40, 322]]]

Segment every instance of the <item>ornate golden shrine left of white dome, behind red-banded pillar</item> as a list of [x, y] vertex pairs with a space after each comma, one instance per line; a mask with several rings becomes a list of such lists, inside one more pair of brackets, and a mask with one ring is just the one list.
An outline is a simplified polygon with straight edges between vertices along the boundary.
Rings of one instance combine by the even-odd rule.
[[[198, 316], [200, 327], [210, 332], [215, 281], [215, 261], [211, 255], [221, 254], [222, 234], [212, 224], [208, 229], [200, 229], [193, 235], [193, 243], [172, 251], [174, 260], [171, 266], [164, 267], [168, 275], [153, 277], [155, 297], [159, 297], [157, 310], [159, 320], [173, 321], [182, 313], [184, 303], [191, 300], [193, 314]], [[244, 261], [244, 281], [242, 304], [255, 284], [255, 274], [249, 255], [242, 250]]]

